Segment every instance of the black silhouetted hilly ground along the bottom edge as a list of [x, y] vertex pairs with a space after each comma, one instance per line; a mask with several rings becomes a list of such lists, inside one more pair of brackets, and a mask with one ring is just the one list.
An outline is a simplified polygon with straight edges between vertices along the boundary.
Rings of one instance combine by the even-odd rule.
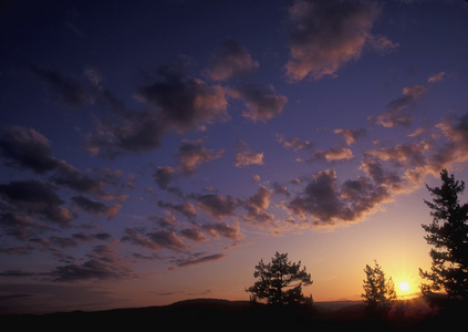
[[[468, 315], [468, 313], [467, 313]], [[4, 331], [92, 331], [118, 328], [118, 331], [449, 331], [466, 328], [465, 317], [396, 314], [386, 320], [368, 319], [362, 304], [330, 309], [315, 305], [304, 308], [274, 308], [248, 301], [187, 300], [170, 305], [114, 309], [94, 312], [61, 312], [51, 314], [0, 315]], [[299, 330], [297, 330], [299, 331]], [[303, 330], [305, 331], [305, 330]], [[91, 331], [90, 331], [91, 332]]]

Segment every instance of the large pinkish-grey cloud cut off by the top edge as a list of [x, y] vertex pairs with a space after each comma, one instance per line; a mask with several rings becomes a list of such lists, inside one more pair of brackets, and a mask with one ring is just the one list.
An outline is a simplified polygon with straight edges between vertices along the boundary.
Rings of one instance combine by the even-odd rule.
[[379, 52], [396, 48], [386, 37], [371, 33], [379, 12], [379, 6], [368, 1], [294, 1], [289, 9], [287, 77], [335, 76], [345, 63], [361, 58], [365, 45]]

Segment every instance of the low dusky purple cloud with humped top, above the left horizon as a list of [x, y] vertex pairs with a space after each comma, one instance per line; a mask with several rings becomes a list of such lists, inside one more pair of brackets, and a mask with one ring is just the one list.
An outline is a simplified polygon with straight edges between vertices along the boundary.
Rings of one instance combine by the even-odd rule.
[[53, 281], [127, 279], [133, 276], [129, 266], [112, 247], [96, 246], [86, 257], [89, 260], [81, 264], [72, 263], [56, 267], [51, 272]]

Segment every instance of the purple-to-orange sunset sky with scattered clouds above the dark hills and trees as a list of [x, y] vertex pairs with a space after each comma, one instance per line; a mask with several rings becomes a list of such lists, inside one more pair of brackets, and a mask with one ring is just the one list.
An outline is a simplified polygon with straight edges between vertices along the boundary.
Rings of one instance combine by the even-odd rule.
[[248, 300], [275, 251], [315, 301], [360, 300], [374, 260], [417, 293], [426, 184], [468, 180], [467, 15], [2, 3], [0, 312]]

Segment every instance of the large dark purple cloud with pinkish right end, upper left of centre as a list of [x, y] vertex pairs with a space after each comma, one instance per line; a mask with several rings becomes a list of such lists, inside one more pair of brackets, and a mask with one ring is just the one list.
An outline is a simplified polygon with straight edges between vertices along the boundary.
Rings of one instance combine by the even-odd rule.
[[164, 65], [135, 97], [144, 111], [114, 110], [107, 120], [97, 120], [87, 135], [86, 149], [107, 158], [144, 153], [160, 146], [167, 133], [186, 133], [228, 118], [225, 89], [210, 86], [185, 73], [181, 64]]

